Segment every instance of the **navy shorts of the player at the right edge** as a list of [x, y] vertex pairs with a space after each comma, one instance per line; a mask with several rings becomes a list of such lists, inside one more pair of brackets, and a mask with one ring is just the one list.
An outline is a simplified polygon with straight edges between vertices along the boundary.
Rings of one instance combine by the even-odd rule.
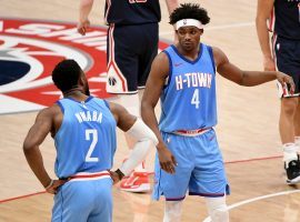
[[273, 51], [277, 69], [292, 77], [296, 89], [289, 93], [289, 85], [282, 89], [278, 83], [279, 97], [300, 97], [300, 40], [273, 37]]

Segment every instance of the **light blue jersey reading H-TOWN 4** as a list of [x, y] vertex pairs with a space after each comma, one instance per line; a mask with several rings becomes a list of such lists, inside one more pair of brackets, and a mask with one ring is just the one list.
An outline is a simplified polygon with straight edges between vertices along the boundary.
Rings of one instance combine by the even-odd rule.
[[163, 52], [170, 73], [160, 97], [160, 130], [196, 130], [217, 124], [216, 67], [212, 49], [201, 43], [194, 61], [179, 54], [174, 46]]

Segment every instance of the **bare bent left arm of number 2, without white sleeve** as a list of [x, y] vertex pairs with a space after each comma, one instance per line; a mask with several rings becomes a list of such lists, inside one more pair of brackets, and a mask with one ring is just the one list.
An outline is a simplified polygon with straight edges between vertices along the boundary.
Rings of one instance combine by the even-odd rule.
[[52, 130], [53, 127], [53, 107], [47, 108], [39, 112], [36, 118], [34, 124], [30, 128], [24, 142], [23, 152], [28, 164], [31, 170], [50, 193], [56, 193], [56, 189], [63, 182], [59, 180], [51, 180], [47, 173], [42, 155], [40, 152], [40, 145], [44, 141], [47, 134]]

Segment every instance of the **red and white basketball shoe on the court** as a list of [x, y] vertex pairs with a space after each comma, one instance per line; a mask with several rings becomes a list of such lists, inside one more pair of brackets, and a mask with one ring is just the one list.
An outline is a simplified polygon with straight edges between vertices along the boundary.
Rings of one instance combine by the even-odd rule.
[[149, 173], [133, 171], [129, 176], [122, 179], [120, 190], [134, 193], [150, 191]]

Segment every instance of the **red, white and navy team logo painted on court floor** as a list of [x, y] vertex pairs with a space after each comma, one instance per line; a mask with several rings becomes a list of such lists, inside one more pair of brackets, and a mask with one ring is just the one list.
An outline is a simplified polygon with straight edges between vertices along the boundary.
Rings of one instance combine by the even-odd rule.
[[[166, 47], [159, 42], [160, 50]], [[106, 50], [106, 27], [92, 27], [82, 37], [76, 23], [0, 18], [0, 114], [36, 111], [60, 99], [51, 71], [66, 58], [84, 70], [93, 95], [111, 97]]]

